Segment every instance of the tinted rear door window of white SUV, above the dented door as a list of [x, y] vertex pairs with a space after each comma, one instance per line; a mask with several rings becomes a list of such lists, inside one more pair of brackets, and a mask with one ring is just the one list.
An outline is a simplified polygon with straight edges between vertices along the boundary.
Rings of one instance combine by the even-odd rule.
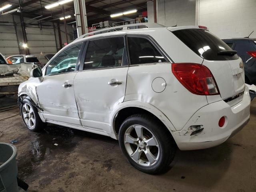
[[111, 37], [89, 42], [84, 70], [122, 65], [124, 37]]

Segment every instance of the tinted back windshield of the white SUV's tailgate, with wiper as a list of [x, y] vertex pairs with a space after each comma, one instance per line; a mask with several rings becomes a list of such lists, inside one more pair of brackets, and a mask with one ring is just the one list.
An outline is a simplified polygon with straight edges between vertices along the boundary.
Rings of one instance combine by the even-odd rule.
[[232, 49], [208, 30], [183, 29], [172, 33], [206, 60], [236, 60], [239, 58], [237, 54], [218, 54], [220, 51], [232, 51]]

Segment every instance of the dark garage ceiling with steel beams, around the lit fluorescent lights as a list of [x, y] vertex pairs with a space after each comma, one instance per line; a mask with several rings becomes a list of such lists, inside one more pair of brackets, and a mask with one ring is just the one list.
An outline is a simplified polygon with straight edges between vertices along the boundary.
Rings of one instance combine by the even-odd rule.
[[[142, 11], [147, 10], [147, 1], [148, 0], [85, 0], [88, 26], [105, 20], [113, 20], [113, 18], [110, 18], [110, 14], [132, 10], [136, 8], [138, 12], [128, 16], [128, 18], [134, 19], [138, 17], [142, 13]], [[38, 17], [35, 20], [32, 20], [34, 23], [37, 24], [38, 22], [59, 22], [59, 18], [63, 17], [62, 6], [57, 6], [52, 9], [44, 8], [46, 5], [52, 4], [54, 2], [57, 2], [57, 0], [23, 0], [22, 14], [24, 17], [28, 18]], [[4, 10], [3, 13], [18, 8], [19, 0], [1, 0], [0, 7], [6, 4], [12, 4], [12, 6]], [[72, 16], [71, 18], [66, 20], [66, 23], [74, 22], [74, 2], [64, 4], [64, 8], [65, 15]], [[0, 15], [1, 14], [2, 13], [0, 12]], [[19, 13], [14, 12], [12, 14]], [[118, 17], [114, 18], [114, 20], [118, 22], [122, 20], [127, 20], [128, 18]]]

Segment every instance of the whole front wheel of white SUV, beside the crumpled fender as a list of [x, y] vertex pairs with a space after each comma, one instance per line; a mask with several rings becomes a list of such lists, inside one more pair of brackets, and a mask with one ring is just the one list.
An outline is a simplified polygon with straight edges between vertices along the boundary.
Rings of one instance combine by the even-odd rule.
[[34, 107], [28, 98], [24, 98], [21, 106], [21, 115], [24, 125], [31, 131], [40, 132], [44, 122], [40, 119], [38, 110]]

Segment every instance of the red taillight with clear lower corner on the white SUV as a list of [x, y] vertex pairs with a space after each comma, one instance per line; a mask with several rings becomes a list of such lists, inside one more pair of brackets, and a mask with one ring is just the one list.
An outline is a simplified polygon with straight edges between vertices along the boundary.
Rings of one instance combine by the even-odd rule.
[[173, 63], [172, 73], [190, 92], [197, 95], [217, 95], [218, 86], [210, 70], [195, 63]]

